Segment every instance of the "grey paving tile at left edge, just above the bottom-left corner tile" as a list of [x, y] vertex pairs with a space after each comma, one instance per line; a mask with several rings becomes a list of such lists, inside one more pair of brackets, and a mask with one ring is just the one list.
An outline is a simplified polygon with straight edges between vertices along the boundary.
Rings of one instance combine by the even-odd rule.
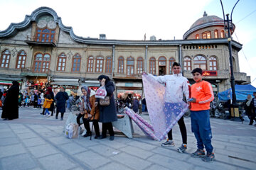
[[21, 144], [0, 147], [0, 158], [23, 153], [26, 153], [26, 149]]

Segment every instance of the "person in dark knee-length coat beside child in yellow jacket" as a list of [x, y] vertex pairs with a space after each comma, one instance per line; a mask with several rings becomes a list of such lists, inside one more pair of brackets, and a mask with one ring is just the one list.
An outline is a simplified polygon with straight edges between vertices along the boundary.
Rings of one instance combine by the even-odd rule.
[[57, 111], [56, 111], [56, 119], [58, 119], [58, 113], [61, 113], [60, 120], [63, 120], [63, 116], [65, 113], [65, 103], [68, 100], [68, 94], [65, 92], [65, 87], [61, 86], [60, 91], [56, 94], [55, 99], [57, 100]]

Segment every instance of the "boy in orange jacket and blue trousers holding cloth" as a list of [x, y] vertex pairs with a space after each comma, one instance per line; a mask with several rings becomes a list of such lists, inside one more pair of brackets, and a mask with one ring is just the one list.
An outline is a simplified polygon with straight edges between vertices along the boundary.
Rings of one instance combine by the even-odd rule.
[[[207, 81], [202, 80], [203, 70], [193, 69], [191, 72], [196, 84], [191, 86], [191, 128], [197, 140], [198, 149], [191, 157], [202, 157], [204, 162], [213, 162], [214, 153], [211, 145], [210, 101], [213, 101], [213, 88]], [[203, 147], [206, 147], [205, 154]]]

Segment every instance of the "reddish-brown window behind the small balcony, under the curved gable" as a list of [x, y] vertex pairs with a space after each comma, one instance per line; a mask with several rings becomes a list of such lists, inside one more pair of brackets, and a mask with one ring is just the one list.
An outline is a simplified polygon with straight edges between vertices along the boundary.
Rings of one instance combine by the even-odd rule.
[[55, 30], [49, 28], [36, 29], [36, 41], [38, 42], [53, 42], [55, 37]]

